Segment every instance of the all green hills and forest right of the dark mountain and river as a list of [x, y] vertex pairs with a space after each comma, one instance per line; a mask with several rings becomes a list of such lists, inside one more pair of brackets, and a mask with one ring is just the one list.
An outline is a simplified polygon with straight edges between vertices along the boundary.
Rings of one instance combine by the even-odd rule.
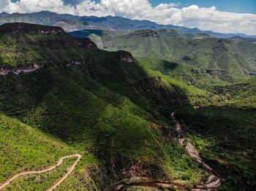
[[189, 95], [189, 101], [176, 107], [178, 120], [183, 122], [187, 136], [201, 156], [222, 177], [224, 182], [219, 190], [253, 190], [256, 184], [256, 81], [250, 78], [255, 76], [256, 66], [253, 41], [184, 35], [168, 29], [117, 36], [99, 32], [91, 36], [89, 31], [71, 34], [88, 36], [105, 50], [132, 52], [148, 75], [180, 87], [184, 95]]

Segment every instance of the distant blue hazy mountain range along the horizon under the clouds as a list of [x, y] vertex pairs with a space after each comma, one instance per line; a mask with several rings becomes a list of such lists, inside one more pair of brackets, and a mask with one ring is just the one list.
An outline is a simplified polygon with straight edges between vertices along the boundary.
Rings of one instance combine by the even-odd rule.
[[34, 13], [0, 13], [0, 24], [25, 22], [48, 26], [60, 26], [65, 31], [79, 31], [83, 29], [101, 29], [119, 32], [138, 31], [141, 29], [159, 30], [162, 28], [173, 28], [184, 34], [209, 34], [218, 38], [230, 38], [233, 36], [252, 37], [246, 34], [221, 34], [213, 31], [200, 31], [198, 28], [187, 28], [173, 25], [160, 25], [149, 20], [130, 20], [124, 17], [87, 17], [74, 15], [59, 15], [55, 12], [34, 12]]

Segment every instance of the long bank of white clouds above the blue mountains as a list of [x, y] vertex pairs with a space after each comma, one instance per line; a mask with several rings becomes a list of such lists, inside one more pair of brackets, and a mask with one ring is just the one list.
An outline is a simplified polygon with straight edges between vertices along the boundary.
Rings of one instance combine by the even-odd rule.
[[73, 15], [118, 15], [201, 30], [256, 34], [255, 14], [221, 12], [216, 7], [200, 8], [197, 5], [181, 9], [176, 6], [177, 4], [170, 3], [152, 7], [148, 0], [101, 0], [99, 3], [82, 0], [76, 7], [64, 4], [62, 0], [20, 0], [16, 3], [12, 3], [11, 0], [0, 0], [0, 12], [49, 10]]

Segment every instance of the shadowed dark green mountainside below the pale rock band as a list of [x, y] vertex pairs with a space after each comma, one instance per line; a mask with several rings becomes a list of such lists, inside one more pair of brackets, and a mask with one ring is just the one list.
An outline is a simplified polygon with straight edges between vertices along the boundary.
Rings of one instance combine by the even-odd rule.
[[1, 111], [93, 153], [111, 176], [106, 182], [123, 179], [120, 169], [129, 171], [138, 161], [145, 176], [165, 179], [158, 164], [164, 158], [157, 146], [161, 129], [150, 124], [161, 128], [173, 110], [189, 106], [187, 95], [148, 77], [137, 62], [121, 62], [120, 52], [96, 53], [85, 66], [0, 76]]

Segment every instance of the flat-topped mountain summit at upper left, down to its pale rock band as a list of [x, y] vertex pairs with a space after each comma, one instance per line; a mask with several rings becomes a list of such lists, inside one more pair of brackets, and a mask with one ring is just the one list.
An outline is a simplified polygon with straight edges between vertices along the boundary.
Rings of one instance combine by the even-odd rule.
[[7, 23], [0, 26], [1, 75], [34, 71], [34, 63], [42, 66], [49, 60], [69, 63], [81, 56], [77, 54], [78, 50], [98, 49], [90, 39], [70, 36], [59, 27], [29, 23]]

